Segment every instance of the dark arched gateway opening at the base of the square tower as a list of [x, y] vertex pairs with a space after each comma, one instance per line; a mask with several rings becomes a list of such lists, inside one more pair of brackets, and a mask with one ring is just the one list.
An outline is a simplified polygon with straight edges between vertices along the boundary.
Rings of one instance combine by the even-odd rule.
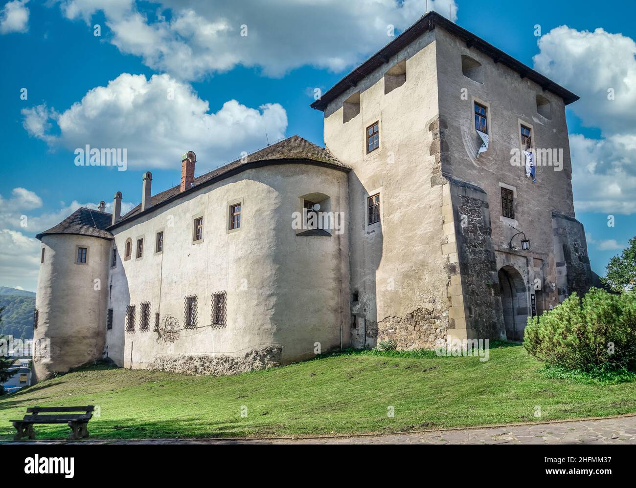
[[506, 324], [506, 339], [522, 341], [523, 330], [530, 315], [527, 287], [521, 273], [512, 266], [502, 267], [497, 275]]

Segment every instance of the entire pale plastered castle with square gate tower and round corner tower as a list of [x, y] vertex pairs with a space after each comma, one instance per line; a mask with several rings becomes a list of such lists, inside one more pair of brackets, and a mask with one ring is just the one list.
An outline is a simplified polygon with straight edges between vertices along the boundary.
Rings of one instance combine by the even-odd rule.
[[198, 177], [190, 151], [181, 184], [152, 194], [144, 173], [127, 214], [117, 192], [113, 214], [79, 208], [38, 234], [36, 376], [522, 339], [528, 316], [591, 283], [577, 98], [427, 13], [312, 104], [326, 148], [293, 136]]

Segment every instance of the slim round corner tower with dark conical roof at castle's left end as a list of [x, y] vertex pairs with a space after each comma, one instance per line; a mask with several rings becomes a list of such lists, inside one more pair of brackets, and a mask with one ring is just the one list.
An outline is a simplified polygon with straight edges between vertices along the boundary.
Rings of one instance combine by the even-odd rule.
[[33, 370], [36, 381], [102, 357], [111, 214], [79, 208], [36, 237], [42, 243]]

